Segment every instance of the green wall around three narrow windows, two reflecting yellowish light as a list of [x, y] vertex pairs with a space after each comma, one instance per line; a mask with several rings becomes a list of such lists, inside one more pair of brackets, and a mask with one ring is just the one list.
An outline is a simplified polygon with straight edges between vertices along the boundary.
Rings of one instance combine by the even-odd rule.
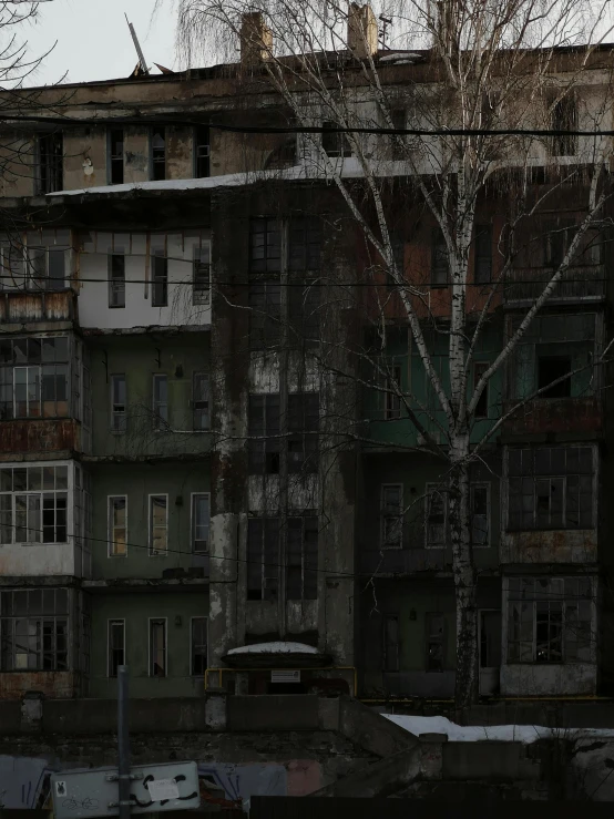
[[[95, 463], [92, 475], [92, 576], [162, 577], [168, 569], [204, 565], [192, 554], [191, 495], [208, 492], [207, 461], [162, 463]], [[149, 495], [168, 495], [168, 551], [149, 556]], [[127, 495], [127, 550], [109, 556], [109, 495]], [[206, 566], [205, 566], [206, 569]]]

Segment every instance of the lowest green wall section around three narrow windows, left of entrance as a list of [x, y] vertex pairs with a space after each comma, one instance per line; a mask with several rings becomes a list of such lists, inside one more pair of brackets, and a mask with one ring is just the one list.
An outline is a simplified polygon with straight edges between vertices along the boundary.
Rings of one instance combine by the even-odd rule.
[[[202, 696], [203, 677], [191, 675], [191, 617], [208, 615], [208, 592], [92, 594], [91, 697], [115, 697], [108, 675], [108, 623], [125, 621], [131, 697]], [[167, 676], [149, 676], [149, 618], [166, 617]], [[181, 622], [180, 622], [181, 620]]]

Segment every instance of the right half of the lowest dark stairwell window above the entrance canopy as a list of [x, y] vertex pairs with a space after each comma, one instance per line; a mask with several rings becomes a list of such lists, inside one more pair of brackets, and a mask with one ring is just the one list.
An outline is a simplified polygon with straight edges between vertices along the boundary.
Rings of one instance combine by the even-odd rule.
[[288, 518], [286, 532], [286, 598], [317, 600], [318, 519]]

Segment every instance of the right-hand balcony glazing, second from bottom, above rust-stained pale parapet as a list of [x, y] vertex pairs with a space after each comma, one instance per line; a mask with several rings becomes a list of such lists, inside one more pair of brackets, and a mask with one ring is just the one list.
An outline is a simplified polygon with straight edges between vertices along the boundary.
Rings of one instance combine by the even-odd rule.
[[508, 529], [592, 529], [591, 447], [510, 449]]

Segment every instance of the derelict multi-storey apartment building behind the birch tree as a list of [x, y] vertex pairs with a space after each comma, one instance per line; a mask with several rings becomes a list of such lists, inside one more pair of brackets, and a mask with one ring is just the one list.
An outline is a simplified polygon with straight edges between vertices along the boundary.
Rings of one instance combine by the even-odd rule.
[[[339, 229], [334, 186], [301, 173], [301, 136], [216, 127], [288, 121], [243, 45], [236, 65], [41, 89], [39, 119], [13, 135], [23, 151], [1, 180], [0, 248], [4, 699], [113, 698], [122, 664], [140, 698], [205, 686], [452, 696], [442, 470], [406, 403], [361, 386], [350, 350], [370, 345], [369, 296], [354, 287], [357, 270], [368, 280], [365, 243]], [[420, 59], [381, 63], [383, 81], [427, 82]], [[48, 103], [66, 91], [58, 117]], [[321, 139], [351, 167], [342, 135]], [[471, 379], [582, 218], [572, 185], [565, 195], [544, 216], [563, 238], [493, 300]], [[501, 199], [479, 206], [474, 284], [498, 265]], [[428, 219], [416, 226], [415, 204], [399, 208], [399, 258], [444, 317], [440, 239]], [[511, 401], [572, 373], [498, 424], [472, 477], [483, 695], [595, 695], [613, 682], [608, 393], [592, 365], [610, 335], [612, 252], [605, 233], [591, 239], [477, 408], [475, 441]], [[396, 299], [385, 357], [434, 423]], [[434, 358], [443, 371], [444, 346]]]

